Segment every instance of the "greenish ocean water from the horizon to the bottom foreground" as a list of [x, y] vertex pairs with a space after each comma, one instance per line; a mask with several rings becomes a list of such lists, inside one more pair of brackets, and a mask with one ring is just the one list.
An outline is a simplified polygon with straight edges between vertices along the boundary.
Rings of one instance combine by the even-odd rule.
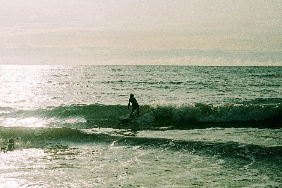
[[281, 88], [282, 67], [0, 65], [0, 187], [281, 187]]

